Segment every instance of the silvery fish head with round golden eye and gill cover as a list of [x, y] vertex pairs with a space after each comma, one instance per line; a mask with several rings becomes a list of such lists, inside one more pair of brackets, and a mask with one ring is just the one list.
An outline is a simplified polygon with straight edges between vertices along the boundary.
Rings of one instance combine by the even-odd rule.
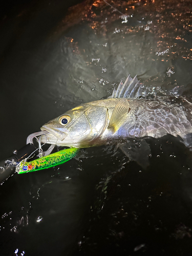
[[102, 135], [108, 122], [108, 109], [102, 106], [81, 104], [63, 115], [42, 125], [41, 142], [58, 146], [89, 147]]

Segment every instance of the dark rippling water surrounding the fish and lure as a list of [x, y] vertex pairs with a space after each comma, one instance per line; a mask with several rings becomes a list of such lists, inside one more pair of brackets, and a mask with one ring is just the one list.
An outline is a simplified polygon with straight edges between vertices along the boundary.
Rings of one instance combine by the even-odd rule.
[[[191, 95], [192, 3], [28, 2], [1, 13], [1, 159], [127, 75]], [[77, 4], [77, 3], [76, 3]], [[191, 255], [191, 152], [149, 141], [143, 170], [114, 148], [14, 175], [0, 187], [0, 255]]]

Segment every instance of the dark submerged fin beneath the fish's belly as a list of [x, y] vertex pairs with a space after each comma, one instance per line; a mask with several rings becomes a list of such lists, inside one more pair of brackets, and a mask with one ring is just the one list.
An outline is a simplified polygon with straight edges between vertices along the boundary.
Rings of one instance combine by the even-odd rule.
[[145, 140], [129, 141], [119, 147], [125, 156], [136, 161], [143, 169], [150, 165], [148, 156], [151, 154], [151, 149]]

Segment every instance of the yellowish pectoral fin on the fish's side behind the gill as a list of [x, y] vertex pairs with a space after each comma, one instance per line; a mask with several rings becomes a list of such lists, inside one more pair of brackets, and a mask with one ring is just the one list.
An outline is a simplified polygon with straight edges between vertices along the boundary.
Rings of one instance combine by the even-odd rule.
[[130, 104], [126, 99], [120, 100], [112, 113], [110, 123], [108, 125], [108, 129], [112, 130], [115, 133], [119, 127], [122, 125], [126, 114], [130, 112]]

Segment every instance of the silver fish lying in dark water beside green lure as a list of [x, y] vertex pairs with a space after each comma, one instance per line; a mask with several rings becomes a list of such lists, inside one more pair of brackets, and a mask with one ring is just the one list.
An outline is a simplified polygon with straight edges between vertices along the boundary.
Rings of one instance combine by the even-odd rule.
[[110, 97], [82, 103], [42, 125], [40, 129], [46, 131], [46, 136], [41, 140], [75, 148], [114, 142], [130, 160], [146, 168], [151, 154], [146, 141], [149, 137], [170, 134], [191, 146], [191, 103], [174, 95], [175, 91], [146, 96], [137, 76], [129, 75]]

